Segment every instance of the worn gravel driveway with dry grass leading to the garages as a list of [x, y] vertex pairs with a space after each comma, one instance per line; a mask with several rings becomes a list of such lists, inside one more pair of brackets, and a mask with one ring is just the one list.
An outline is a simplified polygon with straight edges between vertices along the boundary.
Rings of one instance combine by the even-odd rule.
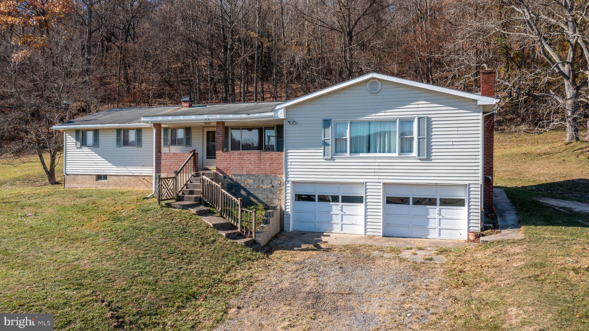
[[264, 281], [231, 302], [216, 330], [419, 329], [444, 309], [446, 299], [434, 294], [438, 267], [373, 251], [328, 244], [275, 251]]

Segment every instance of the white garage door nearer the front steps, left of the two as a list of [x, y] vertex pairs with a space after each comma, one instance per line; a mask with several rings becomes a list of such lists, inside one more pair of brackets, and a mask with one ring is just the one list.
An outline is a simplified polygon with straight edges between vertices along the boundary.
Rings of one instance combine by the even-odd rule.
[[293, 230], [364, 233], [364, 184], [296, 183]]

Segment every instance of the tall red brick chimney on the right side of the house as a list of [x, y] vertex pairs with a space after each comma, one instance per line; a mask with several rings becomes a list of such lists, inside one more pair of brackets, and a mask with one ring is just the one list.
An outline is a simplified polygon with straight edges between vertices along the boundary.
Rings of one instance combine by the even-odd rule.
[[[481, 95], [495, 97], [495, 69], [481, 70]], [[483, 123], [483, 176], [490, 176], [491, 183], [483, 183], [483, 208], [485, 210], [494, 210], [493, 204], [493, 141], [495, 133], [495, 117], [488, 115], [484, 117]]]

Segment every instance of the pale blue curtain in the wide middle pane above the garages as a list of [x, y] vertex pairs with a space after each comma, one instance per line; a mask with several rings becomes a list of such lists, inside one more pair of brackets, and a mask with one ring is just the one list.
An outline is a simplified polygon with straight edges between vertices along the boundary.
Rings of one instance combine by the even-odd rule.
[[397, 121], [350, 123], [350, 153], [396, 153]]

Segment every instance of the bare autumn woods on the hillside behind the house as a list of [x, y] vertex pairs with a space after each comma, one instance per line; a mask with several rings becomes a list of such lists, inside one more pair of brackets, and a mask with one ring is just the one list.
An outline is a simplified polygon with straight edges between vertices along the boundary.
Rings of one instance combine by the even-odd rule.
[[[498, 73], [499, 127], [586, 117], [589, 2], [5, 0], [0, 135], [111, 107], [284, 100], [376, 71], [478, 92]], [[56, 108], [59, 107], [59, 108]], [[49, 118], [47, 118], [47, 115]], [[35, 139], [35, 138], [33, 138]]]

